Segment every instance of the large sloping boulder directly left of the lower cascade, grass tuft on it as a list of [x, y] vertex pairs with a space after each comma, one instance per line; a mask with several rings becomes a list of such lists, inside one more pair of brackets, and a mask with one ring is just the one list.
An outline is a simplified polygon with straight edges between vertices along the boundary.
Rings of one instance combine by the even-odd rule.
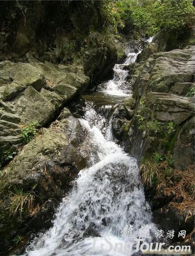
[[[64, 109], [59, 119], [49, 128], [42, 128], [3, 169], [0, 228], [4, 249], [12, 244], [16, 234], [24, 237], [29, 231], [49, 225], [79, 170], [88, 166], [88, 145], [87, 131]], [[31, 205], [24, 203], [19, 210], [13, 200], [24, 195], [32, 199], [28, 201]]]

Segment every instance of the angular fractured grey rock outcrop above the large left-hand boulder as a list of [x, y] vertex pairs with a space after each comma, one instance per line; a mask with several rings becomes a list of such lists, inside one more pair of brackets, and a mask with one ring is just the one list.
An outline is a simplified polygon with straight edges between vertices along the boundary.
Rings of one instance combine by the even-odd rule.
[[21, 125], [33, 121], [38, 121], [41, 127], [48, 124], [89, 82], [82, 67], [55, 66], [49, 62], [4, 61], [0, 70], [0, 145], [8, 149], [21, 144]]

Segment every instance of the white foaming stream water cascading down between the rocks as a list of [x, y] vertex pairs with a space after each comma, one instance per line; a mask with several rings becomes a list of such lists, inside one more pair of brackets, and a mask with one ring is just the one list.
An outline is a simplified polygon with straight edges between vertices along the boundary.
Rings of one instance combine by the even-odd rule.
[[[95, 93], [114, 98], [114, 103], [131, 96], [125, 81], [128, 71], [123, 68], [137, 54], [129, 53], [123, 64], [116, 64], [113, 79]], [[136, 159], [115, 143], [111, 125], [94, 103], [86, 100], [86, 106], [79, 120], [93, 142], [91, 167], [79, 172], [76, 185], [58, 207], [52, 228], [34, 239], [26, 256], [140, 255], [137, 239], [149, 242], [157, 231]]]

